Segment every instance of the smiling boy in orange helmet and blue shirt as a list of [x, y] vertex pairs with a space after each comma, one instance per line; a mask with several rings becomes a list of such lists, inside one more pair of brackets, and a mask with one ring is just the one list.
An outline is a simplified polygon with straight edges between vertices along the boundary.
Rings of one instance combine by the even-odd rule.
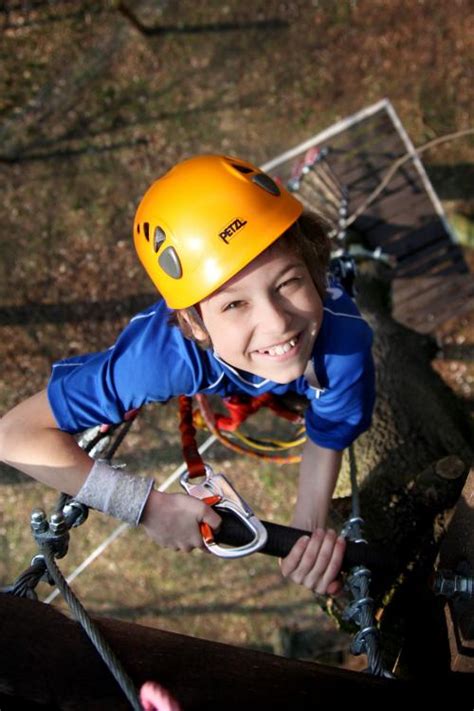
[[163, 299], [111, 349], [55, 364], [47, 392], [1, 421], [1, 458], [189, 551], [203, 545], [199, 522], [217, 528], [218, 514], [94, 463], [72, 434], [183, 393], [304, 394], [308, 439], [292, 523], [314, 533], [281, 570], [335, 594], [345, 543], [325, 530], [326, 517], [342, 450], [370, 424], [372, 337], [342, 289], [326, 288], [328, 240], [302, 211], [270, 176], [228, 156], [185, 160], [157, 180], [138, 207], [134, 240]]

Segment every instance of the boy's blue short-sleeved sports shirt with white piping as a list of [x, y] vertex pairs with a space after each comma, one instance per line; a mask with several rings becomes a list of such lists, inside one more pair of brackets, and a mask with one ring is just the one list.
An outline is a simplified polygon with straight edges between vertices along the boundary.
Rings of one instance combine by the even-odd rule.
[[203, 351], [168, 323], [170, 313], [160, 300], [132, 318], [108, 350], [53, 365], [48, 396], [60, 429], [76, 433], [121, 422], [128, 410], [178, 395], [289, 391], [308, 398], [306, 430], [322, 447], [344, 449], [369, 427], [375, 399], [372, 331], [337, 283], [324, 300], [313, 377], [306, 372], [285, 384], [233, 368], [212, 349]]

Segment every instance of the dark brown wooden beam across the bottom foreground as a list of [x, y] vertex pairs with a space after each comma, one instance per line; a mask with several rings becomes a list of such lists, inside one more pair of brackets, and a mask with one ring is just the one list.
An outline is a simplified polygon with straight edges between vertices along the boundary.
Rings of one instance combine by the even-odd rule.
[[[286, 659], [171, 632], [94, 618], [136, 686], [163, 684], [183, 711], [292, 709], [369, 695], [399, 703], [423, 693], [435, 700], [441, 689], [467, 690], [463, 675], [423, 680], [381, 679], [327, 665]], [[83, 711], [130, 707], [78, 624], [54, 607], [0, 595], [0, 689], [49, 708]], [[4, 708], [2, 704], [2, 709]], [[7, 707], [5, 706], [5, 709]]]

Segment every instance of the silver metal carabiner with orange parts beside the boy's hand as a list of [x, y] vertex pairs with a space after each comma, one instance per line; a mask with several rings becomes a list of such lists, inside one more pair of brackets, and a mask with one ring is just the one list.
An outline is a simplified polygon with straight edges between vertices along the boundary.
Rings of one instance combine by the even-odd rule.
[[217, 511], [231, 511], [251, 531], [253, 539], [237, 548], [224, 548], [214, 540], [212, 529], [207, 524], [201, 524], [204, 545], [210, 553], [220, 558], [242, 558], [259, 551], [267, 542], [267, 530], [258, 520], [246, 501], [237, 493], [224, 474], [214, 474], [208, 464], [205, 464], [206, 477], [200, 484], [193, 484], [189, 472], [180, 477], [183, 489], [204, 503], [214, 506]]

